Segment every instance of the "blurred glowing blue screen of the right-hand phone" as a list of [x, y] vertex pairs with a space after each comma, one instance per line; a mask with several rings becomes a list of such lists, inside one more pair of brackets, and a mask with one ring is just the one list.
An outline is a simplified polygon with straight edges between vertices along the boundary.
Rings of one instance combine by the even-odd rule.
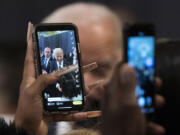
[[128, 38], [128, 64], [136, 71], [136, 95], [143, 113], [154, 112], [154, 42], [152, 36]]

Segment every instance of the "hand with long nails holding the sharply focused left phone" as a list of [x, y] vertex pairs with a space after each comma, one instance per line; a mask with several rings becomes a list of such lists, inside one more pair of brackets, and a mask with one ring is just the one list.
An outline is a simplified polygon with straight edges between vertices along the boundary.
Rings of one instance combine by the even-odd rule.
[[[20, 86], [18, 107], [15, 115], [16, 127], [23, 127], [31, 135], [46, 135], [48, 123], [56, 121], [78, 121], [88, 117], [88, 113], [79, 112], [68, 115], [43, 115], [41, 92], [48, 85], [55, 83], [68, 67], [51, 74], [35, 77], [33, 42], [31, 23], [28, 24], [27, 52], [24, 63], [23, 80]], [[96, 63], [83, 67], [83, 72], [89, 72], [97, 67]]]

